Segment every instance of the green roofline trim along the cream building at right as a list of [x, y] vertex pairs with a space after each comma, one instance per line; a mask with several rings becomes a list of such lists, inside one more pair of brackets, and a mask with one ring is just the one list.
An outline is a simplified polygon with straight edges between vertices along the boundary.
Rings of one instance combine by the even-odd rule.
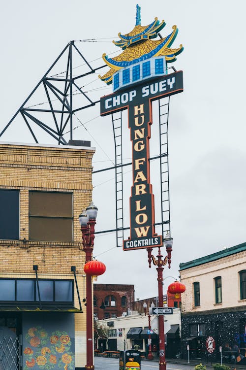
[[245, 250], [246, 250], [246, 242], [235, 245], [234, 247], [223, 249], [221, 251], [210, 254], [208, 256], [197, 258], [196, 260], [181, 263], [180, 270], [190, 269], [191, 267], [195, 267], [195, 266], [206, 264], [208, 262], [216, 261], [216, 260], [219, 260], [220, 258], [224, 258], [232, 254], [243, 252]]

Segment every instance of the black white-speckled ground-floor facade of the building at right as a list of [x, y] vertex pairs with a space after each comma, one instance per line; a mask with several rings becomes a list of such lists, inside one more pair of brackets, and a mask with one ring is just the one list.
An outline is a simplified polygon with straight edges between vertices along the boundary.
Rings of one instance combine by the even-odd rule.
[[[206, 349], [206, 339], [215, 339], [215, 351]], [[246, 356], [246, 306], [216, 309], [199, 313], [182, 314], [182, 357], [186, 359], [189, 345], [190, 359], [220, 361], [219, 346], [222, 346], [223, 362], [236, 362], [237, 346], [241, 357]], [[235, 353], [234, 353], [235, 352]], [[235, 358], [233, 358], [234, 356]], [[239, 358], [238, 358], [239, 360]], [[242, 364], [245, 359], [241, 360]]]

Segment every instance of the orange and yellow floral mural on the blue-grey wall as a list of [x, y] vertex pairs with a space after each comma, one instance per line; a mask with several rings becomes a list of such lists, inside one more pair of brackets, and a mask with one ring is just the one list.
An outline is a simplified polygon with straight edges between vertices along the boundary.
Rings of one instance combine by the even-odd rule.
[[[74, 352], [67, 332], [59, 330], [50, 334], [41, 326], [29, 328], [25, 336], [23, 369], [74, 370]], [[34, 370], [34, 369], [32, 369]]]

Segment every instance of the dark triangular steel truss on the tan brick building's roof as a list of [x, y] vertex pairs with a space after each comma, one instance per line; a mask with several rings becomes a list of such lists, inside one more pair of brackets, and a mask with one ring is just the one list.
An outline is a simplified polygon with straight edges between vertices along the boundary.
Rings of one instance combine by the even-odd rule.
[[[62, 50], [61, 54], [48, 69], [42, 79], [38, 82], [35, 88], [32, 90], [31, 94], [24, 101], [21, 107], [17, 110], [15, 115], [11, 118], [8, 124], [0, 133], [0, 137], [4, 134], [13, 120], [17, 115], [21, 115], [25, 124], [27, 125], [31, 135], [36, 143], [38, 143], [37, 137], [31, 125], [34, 123], [39, 128], [44, 130], [47, 134], [51, 135], [59, 144], [67, 145], [67, 141], [64, 139], [63, 135], [65, 128], [69, 127], [70, 139], [73, 138], [73, 115], [75, 112], [86, 109], [98, 103], [99, 101], [92, 101], [90, 97], [79, 87], [79, 81], [81, 78], [94, 73], [96, 70], [105, 67], [93, 68], [85, 57], [81, 54], [77, 46], [74, 44], [75, 41], [70, 41], [65, 48]], [[80, 59], [85, 64], [87, 70], [85, 73], [80, 75], [73, 74], [73, 58], [75, 53], [76, 57]], [[66, 58], [66, 69], [64, 70], [64, 77], [49, 76], [51, 70], [57, 65], [62, 57]], [[59, 74], [58, 74], [59, 75]], [[49, 104], [48, 109], [37, 109], [35, 107], [27, 107], [27, 103], [31, 101], [34, 93], [39, 87], [43, 87], [43, 92], [45, 93], [47, 102]], [[84, 104], [81, 103], [80, 106], [73, 105], [73, 89], [76, 89], [78, 93], [83, 96]], [[54, 109], [53, 99], [60, 103], [59, 109]], [[37, 104], [38, 105], [38, 104]], [[46, 113], [46, 115], [45, 115]], [[47, 115], [48, 114], [48, 115]]]

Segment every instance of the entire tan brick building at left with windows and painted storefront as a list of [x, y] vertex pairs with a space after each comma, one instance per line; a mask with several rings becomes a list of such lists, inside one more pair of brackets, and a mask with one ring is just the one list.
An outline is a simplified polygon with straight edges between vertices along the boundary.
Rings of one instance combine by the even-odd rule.
[[92, 147], [0, 143], [0, 352], [9, 343], [16, 351], [11, 365], [7, 355], [1, 358], [4, 370], [49, 363], [53, 370], [85, 369], [78, 215], [92, 200], [93, 153]]

